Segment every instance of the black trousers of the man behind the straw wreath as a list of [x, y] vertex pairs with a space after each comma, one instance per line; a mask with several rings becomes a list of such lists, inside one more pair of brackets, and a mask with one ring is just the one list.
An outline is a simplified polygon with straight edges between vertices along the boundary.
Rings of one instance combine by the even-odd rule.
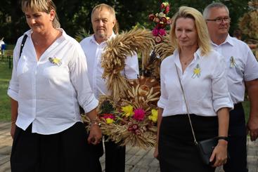
[[124, 172], [125, 146], [106, 141], [105, 145], [105, 172]]

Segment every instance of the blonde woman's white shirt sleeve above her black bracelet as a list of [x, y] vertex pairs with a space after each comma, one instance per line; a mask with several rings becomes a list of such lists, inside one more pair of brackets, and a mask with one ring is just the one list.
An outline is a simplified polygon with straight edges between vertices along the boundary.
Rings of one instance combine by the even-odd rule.
[[221, 56], [219, 57], [217, 64], [214, 65], [212, 74], [212, 100], [215, 112], [222, 107], [233, 109], [233, 102], [228, 93], [226, 65], [224, 58]]

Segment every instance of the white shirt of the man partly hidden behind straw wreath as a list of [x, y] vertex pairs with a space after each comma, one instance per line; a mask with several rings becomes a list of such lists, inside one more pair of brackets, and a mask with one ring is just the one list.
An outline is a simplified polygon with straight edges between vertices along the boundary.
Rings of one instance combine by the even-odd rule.
[[[115, 37], [114, 33], [110, 38], [112, 37]], [[91, 37], [83, 39], [80, 44], [86, 55], [89, 83], [91, 84], [96, 98], [98, 98], [99, 95], [110, 95], [105, 84], [105, 79], [102, 77], [104, 69], [101, 67], [101, 55], [107, 46], [106, 42], [103, 41], [101, 44], [98, 44], [94, 35], [92, 35]], [[139, 74], [137, 55], [127, 57], [124, 70], [122, 70], [121, 74], [127, 79], [137, 79]]]

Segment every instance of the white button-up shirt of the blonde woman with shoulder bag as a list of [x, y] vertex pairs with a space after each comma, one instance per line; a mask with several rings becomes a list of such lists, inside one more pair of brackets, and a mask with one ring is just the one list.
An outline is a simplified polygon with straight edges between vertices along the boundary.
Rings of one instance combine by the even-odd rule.
[[173, 55], [162, 61], [160, 67], [161, 95], [157, 105], [164, 109], [163, 117], [187, 114], [176, 69], [179, 72], [190, 114], [212, 117], [217, 115], [216, 112], [221, 107], [233, 107], [228, 94], [222, 56], [216, 51], [202, 56], [198, 49], [194, 53], [193, 61], [182, 73], [179, 52], [176, 50]]

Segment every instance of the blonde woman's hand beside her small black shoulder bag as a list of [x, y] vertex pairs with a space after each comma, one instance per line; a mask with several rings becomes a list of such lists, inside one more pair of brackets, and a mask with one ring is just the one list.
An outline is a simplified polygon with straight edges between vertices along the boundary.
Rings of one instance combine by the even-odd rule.
[[[214, 148], [212, 152], [212, 156], [209, 158], [209, 161], [214, 161], [213, 167], [222, 166], [223, 164], [226, 164], [227, 160], [227, 148], [228, 148], [228, 142], [226, 140], [219, 140], [217, 146]], [[215, 160], [214, 160], [215, 159]]]

